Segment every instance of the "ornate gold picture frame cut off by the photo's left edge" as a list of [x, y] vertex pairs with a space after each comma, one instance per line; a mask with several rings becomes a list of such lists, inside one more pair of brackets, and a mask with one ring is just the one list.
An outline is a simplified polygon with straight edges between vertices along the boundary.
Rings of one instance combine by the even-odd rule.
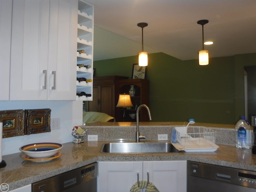
[[24, 110], [0, 111], [0, 122], [3, 123], [3, 138], [24, 135], [23, 119]]

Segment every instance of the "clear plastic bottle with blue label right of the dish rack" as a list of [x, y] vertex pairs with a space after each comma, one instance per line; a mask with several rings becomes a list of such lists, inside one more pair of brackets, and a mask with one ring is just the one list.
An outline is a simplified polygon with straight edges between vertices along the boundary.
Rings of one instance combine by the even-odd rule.
[[245, 116], [241, 116], [240, 120], [236, 123], [236, 147], [249, 149], [251, 145], [252, 132], [250, 125]]

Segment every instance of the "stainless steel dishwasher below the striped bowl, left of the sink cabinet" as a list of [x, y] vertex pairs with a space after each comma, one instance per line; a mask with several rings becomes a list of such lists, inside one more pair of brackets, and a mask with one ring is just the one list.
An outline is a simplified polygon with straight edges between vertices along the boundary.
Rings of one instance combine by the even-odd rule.
[[32, 184], [32, 192], [97, 192], [98, 163]]

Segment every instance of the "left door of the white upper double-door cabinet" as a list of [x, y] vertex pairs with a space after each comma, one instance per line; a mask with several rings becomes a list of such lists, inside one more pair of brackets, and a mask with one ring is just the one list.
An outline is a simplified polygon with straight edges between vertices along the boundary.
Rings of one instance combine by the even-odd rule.
[[47, 100], [49, 0], [13, 0], [10, 100]]

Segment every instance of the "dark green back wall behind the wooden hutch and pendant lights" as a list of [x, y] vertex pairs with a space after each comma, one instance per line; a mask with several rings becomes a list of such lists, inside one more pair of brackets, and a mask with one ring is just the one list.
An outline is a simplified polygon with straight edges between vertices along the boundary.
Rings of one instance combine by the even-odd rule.
[[[210, 58], [208, 66], [199, 66], [198, 60], [182, 61], [164, 53], [149, 54], [146, 78], [150, 81], [152, 120], [186, 122], [194, 118], [196, 122], [235, 124], [237, 115], [243, 115], [241, 107], [236, 109], [235, 71], [241, 70], [236, 69], [236, 63], [247, 56]], [[246, 62], [254, 62], [255, 57], [256, 54], [250, 55]], [[94, 61], [95, 75], [131, 78], [134, 63], [138, 63], [138, 56]]]

